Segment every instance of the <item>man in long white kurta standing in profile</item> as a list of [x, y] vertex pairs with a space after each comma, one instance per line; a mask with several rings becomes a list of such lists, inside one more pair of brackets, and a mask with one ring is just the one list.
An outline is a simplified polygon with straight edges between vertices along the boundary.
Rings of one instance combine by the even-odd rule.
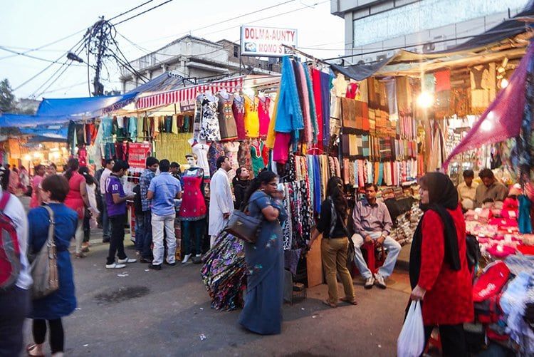
[[209, 182], [209, 227], [210, 247], [213, 247], [215, 237], [226, 225], [231, 211], [234, 209], [234, 200], [228, 178], [231, 170], [231, 162], [228, 157], [221, 156], [217, 159], [217, 171]]

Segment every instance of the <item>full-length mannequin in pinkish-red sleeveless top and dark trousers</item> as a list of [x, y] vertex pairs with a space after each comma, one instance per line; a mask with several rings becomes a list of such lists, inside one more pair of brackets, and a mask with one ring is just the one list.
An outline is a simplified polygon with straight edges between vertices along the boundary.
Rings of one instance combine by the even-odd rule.
[[182, 241], [184, 242], [184, 259], [189, 262], [192, 256], [192, 244], [196, 254], [195, 262], [200, 262], [201, 239], [206, 226], [206, 201], [204, 199], [204, 170], [197, 164], [197, 155], [185, 156], [189, 168], [182, 175], [184, 194], [179, 217], [182, 220]]

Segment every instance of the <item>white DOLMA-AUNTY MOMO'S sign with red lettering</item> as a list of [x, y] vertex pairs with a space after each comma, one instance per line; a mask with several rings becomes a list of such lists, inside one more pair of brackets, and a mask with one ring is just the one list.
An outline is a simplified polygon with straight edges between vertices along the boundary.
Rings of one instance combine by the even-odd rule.
[[297, 46], [296, 29], [241, 26], [241, 56], [281, 57], [286, 46]]

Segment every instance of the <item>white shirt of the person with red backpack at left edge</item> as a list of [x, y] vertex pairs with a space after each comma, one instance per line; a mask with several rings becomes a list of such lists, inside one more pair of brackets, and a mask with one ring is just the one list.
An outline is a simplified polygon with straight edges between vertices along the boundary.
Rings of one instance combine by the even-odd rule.
[[[0, 189], [0, 197], [1, 195], [4, 195], [4, 192]], [[16, 236], [19, 239], [19, 249], [21, 250], [21, 272], [15, 284], [19, 288], [27, 290], [33, 282], [30, 275], [30, 263], [26, 257], [28, 250], [28, 217], [26, 217], [21, 201], [15, 195], [9, 197], [4, 214], [15, 225]]]

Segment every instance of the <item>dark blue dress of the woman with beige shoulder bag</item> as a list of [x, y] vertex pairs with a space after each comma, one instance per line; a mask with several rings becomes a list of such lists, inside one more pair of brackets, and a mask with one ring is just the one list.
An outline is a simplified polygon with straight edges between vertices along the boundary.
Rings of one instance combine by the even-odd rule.
[[[30, 319], [54, 320], [71, 314], [76, 308], [74, 292], [73, 266], [70, 264], [68, 247], [73, 239], [78, 224], [78, 214], [63, 203], [49, 205], [56, 220], [56, 249], [58, 257], [58, 291], [33, 300], [33, 307], [28, 316]], [[36, 207], [28, 212], [29, 238], [28, 247], [34, 252], [43, 247], [48, 239], [48, 211], [44, 207]]]

